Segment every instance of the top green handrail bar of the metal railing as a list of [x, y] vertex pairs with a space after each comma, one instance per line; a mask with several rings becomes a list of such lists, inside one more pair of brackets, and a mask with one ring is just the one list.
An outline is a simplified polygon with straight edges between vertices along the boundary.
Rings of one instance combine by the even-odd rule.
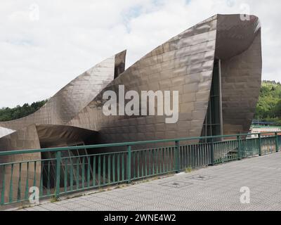
[[280, 132], [263, 132], [263, 133], [248, 133], [248, 134], [229, 134], [229, 135], [218, 135], [218, 136], [197, 136], [197, 137], [188, 137], [181, 139], [163, 139], [163, 140], [152, 140], [152, 141], [134, 141], [134, 142], [122, 142], [122, 143], [105, 143], [89, 146], [69, 146], [69, 147], [59, 147], [59, 148], [40, 148], [40, 149], [28, 149], [28, 150], [0, 150], [0, 156], [5, 155], [19, 155], [19, 154], [29, 154], [29, 153], [47, 153], [47, 152], [61, 152], [66, 150], [79, 150], [79, 149], [93, 149], [93, 148], [109, 148], [109, 147], [121, 147], [121, 146], [137, 146], [148, 143], [169, 143], [176, 141], [192, 141], [192, 140], [202, 140], [202, 139], [221, 139], [221, 138], [230, 138], [237, 136], [254, 136], [254, 135], [263, 135], [263, 134], [278, 134]]

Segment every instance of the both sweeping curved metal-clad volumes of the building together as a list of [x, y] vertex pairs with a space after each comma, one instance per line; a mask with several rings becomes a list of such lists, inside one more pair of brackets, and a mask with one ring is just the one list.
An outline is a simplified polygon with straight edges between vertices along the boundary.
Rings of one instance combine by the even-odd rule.
[[[32, 124], [79, 127], [97, 131], [100, 143], [200, 136], [218, 59], [223, 133], [249, 130], [261, 84], [261, 27], [256, 16], [242, 21], [240, 15], [215, 15], [158, 46], [127, 70], [125, 56], [126, 51], [108, 58], [67, 84], [33, 115], [0, 122], [0, 127], [15, 131]], [[178, 122], [166, 124], [166, 117], [157, 115], [103, 115], [104, 91], [118, 94], [119, 85], [139, 94], [178, 91]]]

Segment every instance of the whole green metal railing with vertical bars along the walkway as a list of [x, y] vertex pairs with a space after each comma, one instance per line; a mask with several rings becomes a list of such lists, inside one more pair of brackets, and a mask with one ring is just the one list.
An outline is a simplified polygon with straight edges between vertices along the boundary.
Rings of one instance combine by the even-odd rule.
[[[275, 153], [280, 147], [280, 135], [263, 133], [0, 151], [0, 158], [11, 159], [0, 163], [0, 205], [29, 200], [32, 186], [39, 189], [40, 198], [58, 198], [187, 168]], [[43, 159], [42, 153], [53, 157]], [[39, 159], [28, 160], [34, 156]]]

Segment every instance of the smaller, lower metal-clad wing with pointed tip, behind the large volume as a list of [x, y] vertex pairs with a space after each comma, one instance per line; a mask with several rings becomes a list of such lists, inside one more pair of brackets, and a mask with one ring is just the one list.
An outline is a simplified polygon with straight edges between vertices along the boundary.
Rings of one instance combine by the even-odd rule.
[[[126, 51], [123, 51], [98, 63], [60, 89], [36, 113], [18, 120], [0, 122], [0, 127], [18, 130], [30, 124], [66, 124], [112, 82], [115, 73], [118, 75], [122, 68], [124, 71], [125, 57]], [[117, 72], [116, 68], [119, 68]]]

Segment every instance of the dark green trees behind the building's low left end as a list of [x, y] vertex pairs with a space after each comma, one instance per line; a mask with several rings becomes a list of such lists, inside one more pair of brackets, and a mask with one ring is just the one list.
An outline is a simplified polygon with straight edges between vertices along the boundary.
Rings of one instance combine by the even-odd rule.
[[0, 108], [0, 121], [16, 120], [26, 117], [39, 110], [47, 101], [48, 100], [37, 101], [31, 105], [25, 103], [22, 106], [17, 105], [15, 108]]

